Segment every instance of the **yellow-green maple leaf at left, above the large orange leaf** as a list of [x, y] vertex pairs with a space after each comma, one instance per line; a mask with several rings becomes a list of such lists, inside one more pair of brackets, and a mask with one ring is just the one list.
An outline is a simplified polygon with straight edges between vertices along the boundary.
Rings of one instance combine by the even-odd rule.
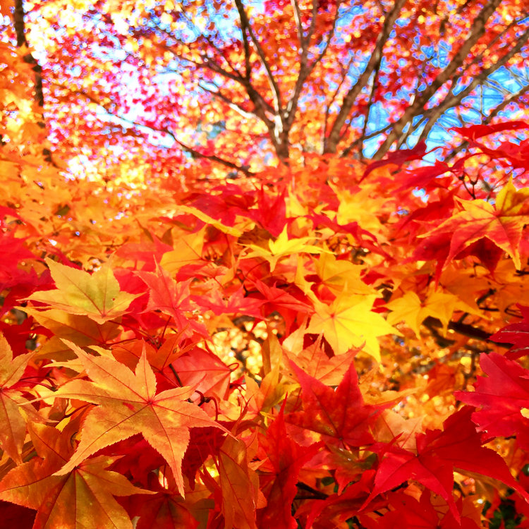
[[28, 300], [46, 303], [72, 315], [85, 315], [102, 324], [126, 314], [128, 305], [138, 296], [121, 292], [108, 263], [89, 274], [47, 258], [56, 290], [32, 293]]

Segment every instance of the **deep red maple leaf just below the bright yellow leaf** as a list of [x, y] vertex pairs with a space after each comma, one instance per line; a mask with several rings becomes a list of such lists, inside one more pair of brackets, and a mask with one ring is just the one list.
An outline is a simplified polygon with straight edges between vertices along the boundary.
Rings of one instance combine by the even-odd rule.
[[288, 413], [286, 422], [317, 432], [327, 441], [339, 440], [349, 446], [365, 446], [373, 442], [370, 425], [382, 407], [363, 402], [354, 363], [336, 390], [310, 377], [296, 364], [291, 363], [291, 367], [301, 386], [303, 411]]

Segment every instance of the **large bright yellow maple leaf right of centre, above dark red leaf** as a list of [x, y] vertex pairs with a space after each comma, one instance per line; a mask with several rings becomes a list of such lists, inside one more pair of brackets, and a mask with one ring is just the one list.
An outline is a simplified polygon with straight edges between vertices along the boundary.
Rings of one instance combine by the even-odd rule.
[[315, 300], [315, 315], [310, 319], [307, 332], [323, 333], [336, 355], [351, 347], [362, 348], [380, 361], [377, 336], [400, 334], [384, 318], [372, 312], [375, 296], [338, 296], [332, 305]]

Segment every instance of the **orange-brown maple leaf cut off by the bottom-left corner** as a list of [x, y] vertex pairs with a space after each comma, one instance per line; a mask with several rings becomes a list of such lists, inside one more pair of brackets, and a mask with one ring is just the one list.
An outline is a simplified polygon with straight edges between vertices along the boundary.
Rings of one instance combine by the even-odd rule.
[[13, 468], [0, 482], [0, 499], [37, 509], [34, 527], [97, 527], [132, 529], [126, 511], [114, 496], [152, 494], [132, 485], [125, 476], [105, 470], [116, 458], [87, 459], [66, 475], [55, 471], [73, 450], [70, 423], [61, 432], [32, 423], [30, 435], [39, 457]]

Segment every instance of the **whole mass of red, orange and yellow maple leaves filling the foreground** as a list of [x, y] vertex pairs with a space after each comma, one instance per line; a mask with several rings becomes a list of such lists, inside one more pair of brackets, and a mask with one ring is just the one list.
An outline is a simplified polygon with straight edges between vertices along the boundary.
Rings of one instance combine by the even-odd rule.
[[420, 149], [367, 170], [315, 157], [240, 186], [145, 191], [136, 221], [89, 183], [54, 197], [50, 173], [23, 202], [13, 178], [2, 516], [471, 529], [500, 490], [527, 526], [529, 309], [505, 317], [529, 289], [529, 188], [498, 169], [522, 154], [477, 142], [521, 126], [458, 130], [475, 152], [452, 165], [413, 167]]

